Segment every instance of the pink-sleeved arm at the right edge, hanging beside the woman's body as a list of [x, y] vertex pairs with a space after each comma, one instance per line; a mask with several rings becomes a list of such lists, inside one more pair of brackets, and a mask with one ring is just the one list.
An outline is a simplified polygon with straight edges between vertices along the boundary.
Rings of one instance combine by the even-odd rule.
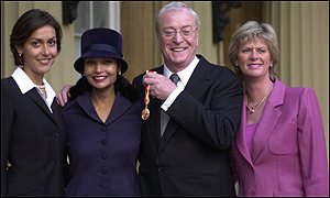
[[320, 107], [315, 91], [304, 90], [298, 114], [298, 144], [306, 196], [329, 196], [329, 170]]

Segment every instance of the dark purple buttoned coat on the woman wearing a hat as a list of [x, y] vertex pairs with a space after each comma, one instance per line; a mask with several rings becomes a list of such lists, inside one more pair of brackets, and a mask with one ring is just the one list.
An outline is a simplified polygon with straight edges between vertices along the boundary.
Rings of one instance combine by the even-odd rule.
[[106, 123], [97, 116], [90, 94], [64, 107], [70, 160], [69, 197], [140, 196], [136, 173], [141, 142], [142, 101], [120, 92]]

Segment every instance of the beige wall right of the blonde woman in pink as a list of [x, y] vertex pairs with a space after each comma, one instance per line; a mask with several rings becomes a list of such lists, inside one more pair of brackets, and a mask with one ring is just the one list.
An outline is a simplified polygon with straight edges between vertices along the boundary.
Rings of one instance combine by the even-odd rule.
[[329, 2], [273, 1], [264, 10], [278, 32], [282, 80], [317, 92], [329, 156]]

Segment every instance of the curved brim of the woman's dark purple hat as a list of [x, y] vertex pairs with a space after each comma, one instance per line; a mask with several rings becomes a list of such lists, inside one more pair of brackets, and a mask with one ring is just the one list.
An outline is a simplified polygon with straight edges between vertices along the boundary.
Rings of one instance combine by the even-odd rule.
[[118, 54], [102, 51], [89, 51], [80, 56], [74, 64], [75, 69], [84, 75], [84, 64], [86, 58], [116, 58], [120, 62], [121, 74], [128, 70], [128, 63]]

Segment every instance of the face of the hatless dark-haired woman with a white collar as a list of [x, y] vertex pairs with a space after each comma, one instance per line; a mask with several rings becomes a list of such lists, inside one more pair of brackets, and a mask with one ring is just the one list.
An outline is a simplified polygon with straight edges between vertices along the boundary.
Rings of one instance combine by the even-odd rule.
[[[24, 59], [23, 70], [34, 81], [43, 77], [58, 55], [56, 32], [51, 25], [35, 30], [22, 47], [18, 47]], [[35, 81], [34, 81], [35, 82]]]

